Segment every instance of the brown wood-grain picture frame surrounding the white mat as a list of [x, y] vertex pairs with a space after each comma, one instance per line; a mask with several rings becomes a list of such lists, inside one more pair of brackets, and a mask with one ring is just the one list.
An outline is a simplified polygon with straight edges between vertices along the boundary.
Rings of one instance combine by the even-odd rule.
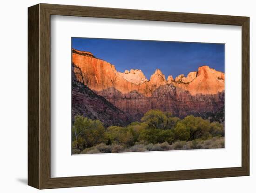
[[[242, 26], [242, 167], [51, 178], [51, 15]], [[249, 175], [249, 17], [53, 4], [38, 4], [28, 8], [29, 186], [47, 189], [246, 175]]]

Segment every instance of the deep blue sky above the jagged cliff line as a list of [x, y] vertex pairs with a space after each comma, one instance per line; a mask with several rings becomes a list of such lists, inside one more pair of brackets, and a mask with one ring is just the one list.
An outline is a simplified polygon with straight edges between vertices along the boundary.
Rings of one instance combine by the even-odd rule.
[[224, 44], [72, 38], [72, 48], [92, 52], [117, 71], [141, 69], [148, 79], [156, 69], [166, 78], [187, 76], [202, 65], [224, 72]]

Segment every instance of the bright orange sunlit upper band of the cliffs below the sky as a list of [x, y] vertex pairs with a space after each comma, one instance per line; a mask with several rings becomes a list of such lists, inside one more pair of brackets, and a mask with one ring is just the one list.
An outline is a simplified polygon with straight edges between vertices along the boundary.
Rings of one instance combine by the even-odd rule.
[[201, 66], [187, 77], [179, 75], [175, 80], [171, 76], [166, 80], [157, 69], [150, 80], [147, 80], [141, 70], [118, 72], [113, 64], [95, 58], [90, 52], [73, 50], [72, 62], [86, 75], [85, 80], [77, 78], [96, 91], [114, 87], [123, 94], [136, 90], [144, 96], [151, 96], [155, 89], [166, 84], [188, 90], [191, 95], [217, 94], [224, 90], [224, 73], [209, 66]]

